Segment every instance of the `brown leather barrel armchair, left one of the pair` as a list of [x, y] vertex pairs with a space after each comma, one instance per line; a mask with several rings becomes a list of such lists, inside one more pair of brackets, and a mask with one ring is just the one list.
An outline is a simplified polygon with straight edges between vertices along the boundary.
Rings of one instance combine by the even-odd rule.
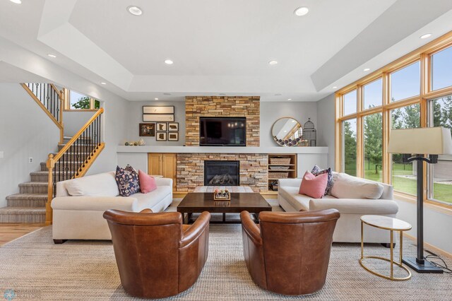
[[210, 213], [201, 213], [193, 225], [182, 225], [178, 212], [107, 210], [104, 218], [127, 293], [162, 298], [194, 285], [208, 257]]

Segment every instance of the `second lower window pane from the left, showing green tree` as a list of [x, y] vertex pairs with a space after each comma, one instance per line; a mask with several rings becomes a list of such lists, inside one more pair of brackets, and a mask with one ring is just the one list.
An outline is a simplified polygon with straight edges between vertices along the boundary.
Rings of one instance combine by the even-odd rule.
[[381, 182], [382, 167], [381, 113], [364, 117], [364, 178]]

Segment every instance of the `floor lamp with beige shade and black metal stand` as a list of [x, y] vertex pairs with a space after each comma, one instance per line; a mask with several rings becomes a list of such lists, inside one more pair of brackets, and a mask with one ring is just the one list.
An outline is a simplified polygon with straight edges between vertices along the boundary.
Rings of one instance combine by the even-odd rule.
[[388, 153], [416, 154], [408, 162], [417, 162], [417, 256], [405, 258], [403, 263], [417, 273], [443, 273], [424, 258], [424, 162], [435, 164], [438, 155], [452, 153], [451, 131], [441, 126], [394, 129], [389, 136]]

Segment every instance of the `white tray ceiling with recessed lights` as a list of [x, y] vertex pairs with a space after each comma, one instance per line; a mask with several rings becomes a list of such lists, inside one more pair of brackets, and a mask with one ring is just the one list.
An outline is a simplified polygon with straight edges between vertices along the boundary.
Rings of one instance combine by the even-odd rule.
[[[299, 6], [307, 16], [293, 14]], [[452, 30], [451, 9], [450, 0], [2, 0], [0, 37], [128, 100], [315, 101], [364, 76], [362, 66], [429, 42], [423, 30]]]

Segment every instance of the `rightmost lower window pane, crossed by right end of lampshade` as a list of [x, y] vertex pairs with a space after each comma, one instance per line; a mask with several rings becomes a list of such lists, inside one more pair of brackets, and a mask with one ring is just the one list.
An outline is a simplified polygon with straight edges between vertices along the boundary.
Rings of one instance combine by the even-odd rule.
[[[429, 124], [452, 129], [452, 95], [429, 102]], [[429, 197], [452, 203], [452, 155], [439, 155], [438, 163], [429, 168]]]

